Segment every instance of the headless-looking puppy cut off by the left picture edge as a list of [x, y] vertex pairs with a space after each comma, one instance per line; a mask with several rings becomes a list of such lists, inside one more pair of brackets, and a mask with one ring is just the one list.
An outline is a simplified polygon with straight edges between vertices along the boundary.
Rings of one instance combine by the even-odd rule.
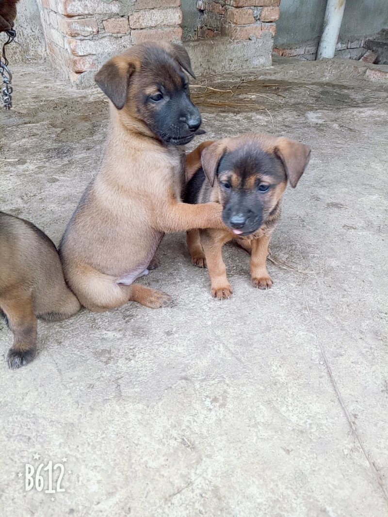
[[0, 212], [0, 313], [14, 334], [8, 366], [16, 369], [33, 360], [37, 317], [64, 320], [80, 307], [49, 237], [32, 223]]

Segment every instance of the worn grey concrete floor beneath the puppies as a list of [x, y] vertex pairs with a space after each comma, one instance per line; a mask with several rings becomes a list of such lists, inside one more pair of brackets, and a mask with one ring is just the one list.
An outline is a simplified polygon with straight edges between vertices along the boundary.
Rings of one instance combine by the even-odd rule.
[[[57, 243], [98, 168], [107, 103], [47, 67], [13, 73], [0, 207]], [[211, 80], [233, 86], [215, 99], [244, 105], [200, 105], [201, 138], [257, 130], [312, 148], [273, 238], [286, 263], [269, 264], [273, 289], [252, 288], [248, 256], [228, 246], [234, 295], [213, 300], [171, 235], [141, 281], [173, 307], [40, 323], [33, 363], [0, 361], [4, 517], [388, 514], [388, 88], [339, 61], [280, 60], [260, 78]], [[50, 460], [65, 492], [26, 492], [25, 464]]]

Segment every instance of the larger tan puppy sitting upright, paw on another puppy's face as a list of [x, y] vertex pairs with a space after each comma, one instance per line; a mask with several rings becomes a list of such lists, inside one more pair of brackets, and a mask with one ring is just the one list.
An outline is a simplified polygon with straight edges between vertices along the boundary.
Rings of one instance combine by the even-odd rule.
[[182, 69], [193, 75], [183, 47], [143, 43], [96, 75], [111, 101], [108, 145], [60, 247], [65, 278], [89, 310], [129, 300], [167, 305], [165, 293], [132, 283], [155, 267], [163, 235], [223, 227], [218, 204], [181, 202], [185, 155], [178, 146], [201, 124]]

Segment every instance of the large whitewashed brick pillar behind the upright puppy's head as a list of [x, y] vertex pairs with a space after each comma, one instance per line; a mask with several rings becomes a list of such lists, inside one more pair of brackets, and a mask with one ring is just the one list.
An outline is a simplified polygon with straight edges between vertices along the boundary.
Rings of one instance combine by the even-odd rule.
[[[181, 0], [38, 0], [47, 51], [72, 83], [146, 40], [182, 40]], [[157, 5], [157, 8], [154, 6]]]

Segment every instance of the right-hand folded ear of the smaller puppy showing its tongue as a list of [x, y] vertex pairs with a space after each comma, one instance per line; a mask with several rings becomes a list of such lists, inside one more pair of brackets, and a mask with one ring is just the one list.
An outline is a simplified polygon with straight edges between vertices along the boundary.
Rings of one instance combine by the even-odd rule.
[[311, 149], [295, 140], [278, 138], [274, 152], [286, 170], [291, 187], [295, 188], [310, 160]]

